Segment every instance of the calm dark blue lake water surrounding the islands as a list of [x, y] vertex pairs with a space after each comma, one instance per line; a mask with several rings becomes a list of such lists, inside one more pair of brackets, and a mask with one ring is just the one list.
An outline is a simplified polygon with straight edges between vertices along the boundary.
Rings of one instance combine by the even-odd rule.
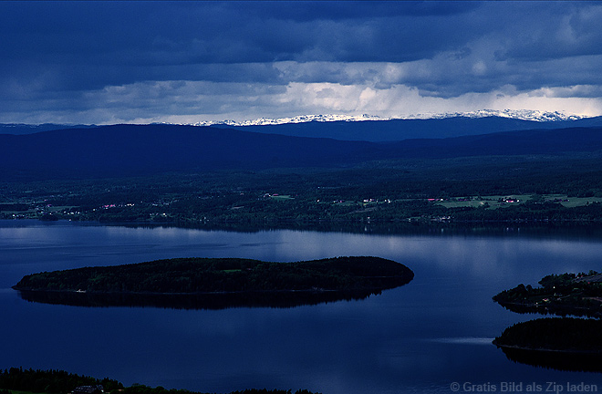
[[[167, 389], [309, 389], [325, 394], [541, 390], [602, 374], [517, 364], [492, 345], [533, 319], [493, 303], [552, 273], [602, 269], [597, 231], [255, 233], [0, 221], [0, 368], [65, 369]], [[180, 310], [30, 303], [10, 287], [40, 271], [171, 257], [290, 262], [375, 255], [409, 285], [361, 301], [292, 308]], [[512, 390], [513, 385], [515, 390]], [[521, 387], [516, 385], [522, 384]], [[472, 386], [478, 385], [478, 386]], [[536, 386], [534, 386], [536, 388]]]

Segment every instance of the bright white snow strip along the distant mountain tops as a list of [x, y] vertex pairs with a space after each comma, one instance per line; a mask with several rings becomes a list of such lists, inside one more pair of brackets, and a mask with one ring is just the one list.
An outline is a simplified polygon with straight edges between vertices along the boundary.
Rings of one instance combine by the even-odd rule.
[[194, 123], [195, 126], [265, 126], [265, 125], [282, 125], [291, 123], [306, 123], [306, 122], [331, 122], [331, 121], [366, 121], [366, 120], [392, 120], [392, 119], [447, 119], [447, 118], [491, 118], [500, 117], [507, 119], [520, 119], [532, 121], [561, 121], [561, 120], [576, 120], [586, 118], [581, 115], [566, 114], [559, 111], [542, 111], [533, 109], [481, 109], [470, 112], [451, 112], [443, 114], [416, 114], [408, 117], [390, 117], [380, 118], [368, 114], [363, 115], [302, 115], [292, 118], [268, 119], [259, 118], [254, 120], [234, 121], [234, 120], [202, 120]]

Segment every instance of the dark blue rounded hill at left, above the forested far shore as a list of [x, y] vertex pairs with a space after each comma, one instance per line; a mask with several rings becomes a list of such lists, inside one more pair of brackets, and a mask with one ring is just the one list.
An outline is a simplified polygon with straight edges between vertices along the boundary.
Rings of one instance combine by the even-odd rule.
[[174, 125], [115, 125], [0, 135], [0, 169], [46, 176], [330, 167], [379, 156], [368, 142]]

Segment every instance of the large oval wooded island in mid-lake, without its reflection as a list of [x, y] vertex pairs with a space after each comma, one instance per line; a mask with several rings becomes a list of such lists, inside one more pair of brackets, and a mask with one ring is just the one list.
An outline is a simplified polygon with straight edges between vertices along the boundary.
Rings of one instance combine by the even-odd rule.
[[403, 264], [379, 257], [296, 263], [238, 258], [179, 258], [26, 275], [17, 290], [197, 294], [382, 290], [413, 278]]

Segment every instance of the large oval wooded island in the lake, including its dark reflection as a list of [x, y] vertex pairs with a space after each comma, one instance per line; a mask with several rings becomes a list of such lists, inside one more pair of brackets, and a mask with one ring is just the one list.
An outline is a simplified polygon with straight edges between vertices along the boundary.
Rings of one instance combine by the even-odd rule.
[[366, 298], [413, 276], [405, 265], [379, 257], [296, 263], [178, 258], [26, 275], [13, 288], [28, 301], [73, 306], [290, 307]]

